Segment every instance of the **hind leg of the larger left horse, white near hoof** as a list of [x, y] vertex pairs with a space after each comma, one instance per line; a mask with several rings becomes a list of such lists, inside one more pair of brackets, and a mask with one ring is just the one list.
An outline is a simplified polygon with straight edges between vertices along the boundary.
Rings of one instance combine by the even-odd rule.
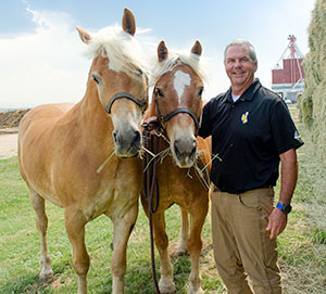
[[36, 227], [40, 234], [41, 240], [41, 270], [39, 273], [40, 281], [47, 281], [53, 276], [51, 268], [51, 259], [49, 256], [49, 248], [47, 242], [48, 217], [46, 214], [46, 202], [35, 191], [30, 190], [30, 202], [36, 213]]

